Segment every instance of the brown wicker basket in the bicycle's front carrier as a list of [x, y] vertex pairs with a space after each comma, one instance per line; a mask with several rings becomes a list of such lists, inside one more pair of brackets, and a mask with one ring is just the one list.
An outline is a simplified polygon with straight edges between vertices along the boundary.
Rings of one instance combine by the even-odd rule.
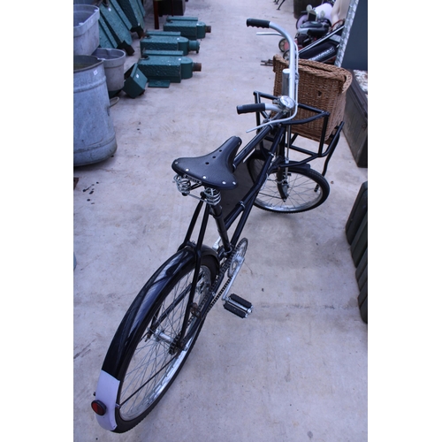
[[[273, 95], [281, 95], [282, 71], [287, 67], [288, 61], [283, 57], [278, 54], [273, 57], [273, 72], [275, 72]], [[327, 141], [335, 126], [338, 126], [344, 118], [346, 93], [352, 82], [352, 74], [341, 67], [311, 60], [300, 59], [298, 67], [300, 73], [299, 103], [330, 112], [325, 132], [325, 140]], [[298, 109], [294, 120], [314, 115], [316, 113], [310, 110]], [[324, 119], [318, 118], [307, 124], [293, 126], [293, 131], [312, 140], [320, 141], [323, 125]]]

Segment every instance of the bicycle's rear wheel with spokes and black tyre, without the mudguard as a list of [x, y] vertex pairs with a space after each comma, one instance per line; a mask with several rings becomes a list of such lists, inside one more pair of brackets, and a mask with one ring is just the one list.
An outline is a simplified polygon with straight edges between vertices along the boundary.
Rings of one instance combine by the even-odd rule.
[[[168, 270], [171, 269], [173, 266]], [[187, 341], [186, 347], [179, 349], [177, 346], [194, 270], [194, 260], [172, 275], [167, 275], [168, 271], [164, 269], [163, 275], [169, 280], [164, 283], [163, 278], [156, 278], [156, 283], [151, 285], [162, 288], [154, 295], [154, 299], [151, 299], [151, 307], [137, 325], [137, 329], [133, 331], [131, 338], [133, 348], [127, 352], [125, 360], [121, 363], [118, 374], [120, 385], [117, 397], [118, 408], [115, 410], [117, 423], [115, 432], [131, 430], [149, 415], [177, 377], [194, 347], [202, 323]], [[194, 304], [186, 330], [189, 330], [197, 320], [198, 307], [201, 307], [216, 274], [216, 259], [211, 255], [202, 256]], [[141, 309], [140, 306], [137, 309]], [[128, 312], [128, 317], [130, 316]]]

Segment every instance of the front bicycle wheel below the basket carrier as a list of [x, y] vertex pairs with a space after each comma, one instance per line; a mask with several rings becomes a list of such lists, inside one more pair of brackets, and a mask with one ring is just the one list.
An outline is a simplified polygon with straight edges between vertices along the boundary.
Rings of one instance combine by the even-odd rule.
[[[247, 165], [250, 178], [255, 182], [263, 168], [263, 156], [256, 152], [248, 158]], [[271, 166], [254, 205], [271, 212], [301, 213], [321, 205], [329, 194], [329, 183], [309, 164]]]

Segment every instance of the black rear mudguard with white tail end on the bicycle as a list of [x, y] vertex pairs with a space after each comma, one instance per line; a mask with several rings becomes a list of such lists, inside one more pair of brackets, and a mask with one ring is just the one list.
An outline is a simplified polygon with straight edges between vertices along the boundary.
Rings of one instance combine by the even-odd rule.
[[[202, 256], [211, 255], [217, 262], [217, 253], [207, 246], [202, 246]], [[96, 415], [98, 423], [105, 429], [113, 431], [117, 428], [115, 421], [115, 408], [117, 405], [118, 388], [121, 370], [124, 369], [126, 355], [132, 351], [134, 336], [141, 326], [149, 309], [154, 305], [158, 293], [168, 290], [173, 283], [173, 276], [195, 261], [194, 248], [186, 247], [172, 255], [149, 279], [141, 292], [133, 300], [121, 321], [109, 350], [104, 358], [103, 367], [95, 390], [95, 400], [99, 400], [106, 408], [104, 415]]]

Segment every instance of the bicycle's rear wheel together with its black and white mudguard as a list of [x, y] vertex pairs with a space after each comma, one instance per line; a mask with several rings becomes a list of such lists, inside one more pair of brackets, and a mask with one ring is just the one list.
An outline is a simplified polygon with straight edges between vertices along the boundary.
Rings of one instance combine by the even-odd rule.
[[[171, 256], [127, 310], [104, 359], [95, 393], [100, 404], [107, 401], [108, 415], [97, 415], [106, 430], [124, 433], [141, 423], [169, 389], [192, 351], [203, 321], [183, 350], [178, 350], [175, 343], [186, 311], [195, 264], [192, 248]], [[197, 304], [204, 299], [218, 269], [215, 252], [203, 248], [194, 296]], [[195, 317], [190, 317], [187, 330]]]

